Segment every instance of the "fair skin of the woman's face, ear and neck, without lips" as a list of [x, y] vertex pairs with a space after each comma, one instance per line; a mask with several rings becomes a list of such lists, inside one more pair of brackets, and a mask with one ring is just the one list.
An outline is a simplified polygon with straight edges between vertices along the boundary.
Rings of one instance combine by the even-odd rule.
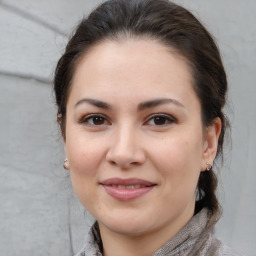
[[[99, 222], [104, 255], [152, 255], [192, 218], [198, 178], [221, 130], [219, 118], [203, 127], [192, 84], [186, 60], [153, 40], [105, 41], [80, 59], [65, 151], [74, 190]], [[142, 107], [156, 99], [168, 102]], [[100, 185], [113, 177], [156, 185], [121, 201]]]

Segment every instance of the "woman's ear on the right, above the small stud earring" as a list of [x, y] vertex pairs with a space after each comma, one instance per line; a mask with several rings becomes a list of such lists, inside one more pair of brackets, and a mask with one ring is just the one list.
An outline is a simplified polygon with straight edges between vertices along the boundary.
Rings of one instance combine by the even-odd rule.
[[221, 126], [220, 118], [216, 117], [212, 124], [207, 126], [205, 129], [201, 171], [206, 170], [206, 163], [213, 165], [213, 161], [217, 154]]

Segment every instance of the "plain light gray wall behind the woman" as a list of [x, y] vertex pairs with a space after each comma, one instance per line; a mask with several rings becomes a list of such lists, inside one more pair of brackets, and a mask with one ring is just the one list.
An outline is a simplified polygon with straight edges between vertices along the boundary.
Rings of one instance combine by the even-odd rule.
[[[73, 195], [51, 79], [67, 35], [99, 0], [0, 0], [0, 255], [70, 256], [91, 217]], [[232, 150], [218, 236], [255, 256], [256, 1], [176, 0], [214, 34], [228, 73]]]

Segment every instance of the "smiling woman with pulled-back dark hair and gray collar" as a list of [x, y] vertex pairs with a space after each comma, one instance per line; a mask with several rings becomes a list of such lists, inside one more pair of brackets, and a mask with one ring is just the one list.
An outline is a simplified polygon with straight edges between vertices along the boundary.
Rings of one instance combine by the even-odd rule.
[[96, 219], [78, 255], [235, 255], [213, 232], [226, 75], [191, 13], [103, 3], [69, 41], [54, 89], [64, 167]]

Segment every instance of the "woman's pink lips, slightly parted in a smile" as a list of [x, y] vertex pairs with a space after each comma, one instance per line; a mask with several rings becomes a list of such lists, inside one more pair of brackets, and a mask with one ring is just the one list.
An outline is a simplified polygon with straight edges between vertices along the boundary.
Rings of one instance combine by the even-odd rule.
[[[156, 184], [152, 182], [137, 178], [111, 178], [104, 180], [100, 184], [110, 196], [121, 201], [129, 201], [139, 198], [156, 186]], [[136, 188], [138, 185], [140, 187]], [[135, 186], [135, 188], [120, 188], [120, 186]]]

